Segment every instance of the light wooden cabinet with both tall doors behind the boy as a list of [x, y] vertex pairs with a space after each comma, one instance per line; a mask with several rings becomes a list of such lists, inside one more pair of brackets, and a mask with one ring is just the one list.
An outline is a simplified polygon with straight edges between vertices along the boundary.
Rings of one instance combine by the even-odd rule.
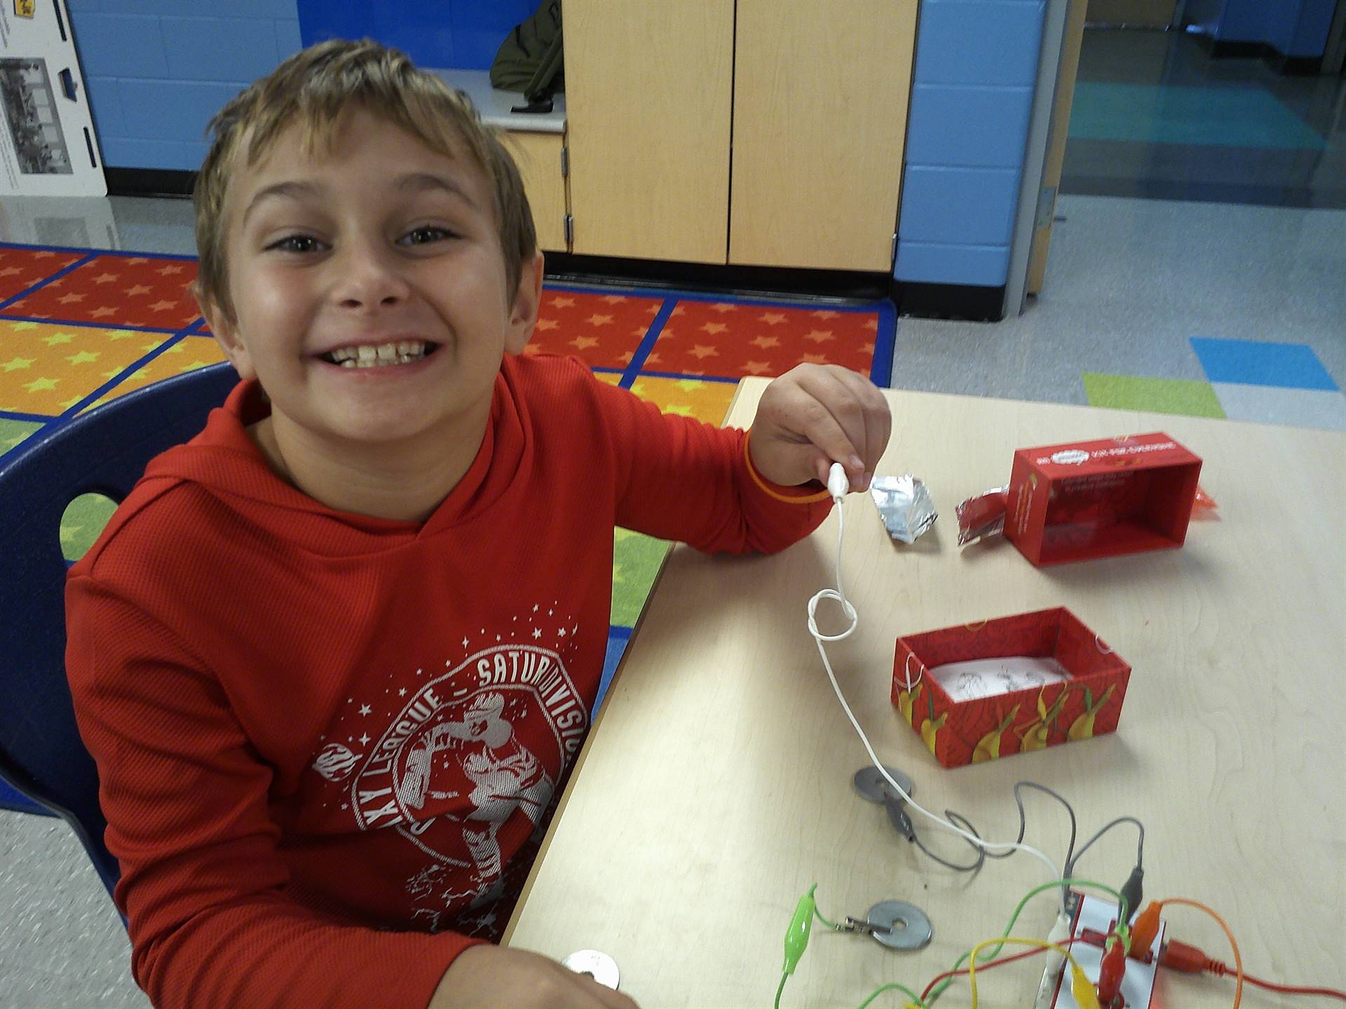
[[915, 20], [917, 0], [565, 0], [572, 252], [888, 270]]

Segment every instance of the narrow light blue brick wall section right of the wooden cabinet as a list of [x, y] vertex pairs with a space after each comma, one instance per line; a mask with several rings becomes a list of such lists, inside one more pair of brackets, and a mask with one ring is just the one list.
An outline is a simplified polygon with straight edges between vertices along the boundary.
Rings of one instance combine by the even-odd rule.
[[898, 280], [1000, 287], [1046, 0], [922, 0]]

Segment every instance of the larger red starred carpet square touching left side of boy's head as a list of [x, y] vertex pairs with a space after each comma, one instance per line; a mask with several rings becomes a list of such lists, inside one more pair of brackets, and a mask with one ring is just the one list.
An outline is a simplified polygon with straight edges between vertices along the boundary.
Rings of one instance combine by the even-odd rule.
[[98, 256], [20, 297], [5, 312], [32, 319], [182, 330], [199, 315], [195, 299], [187, 292], [195, 277], [192, 260]]

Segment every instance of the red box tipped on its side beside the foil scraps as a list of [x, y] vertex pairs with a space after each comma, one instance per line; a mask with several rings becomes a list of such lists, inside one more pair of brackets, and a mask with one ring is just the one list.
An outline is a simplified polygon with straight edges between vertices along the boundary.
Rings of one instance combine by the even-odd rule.
[[1005, 535], [1039, 566], [1182, 546], [1199, 475], [1163, 433], [1020, 448]]

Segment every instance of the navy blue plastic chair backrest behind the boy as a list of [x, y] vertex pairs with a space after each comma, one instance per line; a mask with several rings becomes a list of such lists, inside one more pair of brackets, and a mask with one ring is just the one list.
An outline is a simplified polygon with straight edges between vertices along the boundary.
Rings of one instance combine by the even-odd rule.
[[98, 772], [66, 683], [61, 517], [81, 494], [121, 502], [145, 464], [206, 424], [238, 375], [211, 365], [128, 393], [0, 459], [0, 776], [65, 819], [112, 892]]

